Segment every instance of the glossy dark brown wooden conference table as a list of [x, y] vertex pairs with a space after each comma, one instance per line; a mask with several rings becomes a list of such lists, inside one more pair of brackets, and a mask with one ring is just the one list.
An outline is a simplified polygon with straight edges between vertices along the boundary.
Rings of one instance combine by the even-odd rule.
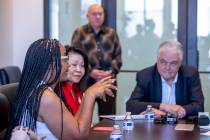
[[[122, 127], [123, 121], [104, 119], [94, 127], [113, 126], [119, 124]], [[193, 124], [193, 121], [179, 120], [178, 123]], [[197, 125], [193, 131], [175, 130], [176, 125], [154, 124], [145, 120], [135, 120], [132, 131], [123, 131], [123, 140], [210, 140], [210, 137], [200, 135]], [[109, 140], [110, 132], [90, 131], [89, 140]]]

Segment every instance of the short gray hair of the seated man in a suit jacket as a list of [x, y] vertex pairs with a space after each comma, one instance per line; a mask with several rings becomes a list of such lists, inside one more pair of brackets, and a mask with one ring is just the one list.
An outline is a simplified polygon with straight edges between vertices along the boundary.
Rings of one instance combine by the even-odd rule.
[[166, 50], [178, 52], [180, 61], [183, 60], [184, 50], [182, 44], [179, 41], [176, 40], [164, 41], [163, 43], [160, 44], [157, 55], [159, 56], [161, 51], [166, 51]]

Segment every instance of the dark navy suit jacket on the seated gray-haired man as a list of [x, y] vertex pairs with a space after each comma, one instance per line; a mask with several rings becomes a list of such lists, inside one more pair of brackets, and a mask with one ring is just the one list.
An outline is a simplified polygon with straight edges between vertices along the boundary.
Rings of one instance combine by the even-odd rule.
[[[159, 108], [162, 101], [161, 77], [157, 66], [139, 71], [136, 75], [136, 87], [126, 103], [126, 111], [139, 114], [148, 104]], [[198, 71], [191, 66], [181, 66], [176, 83], [176, 104], [186, 110], [187, 116], [204, 111], [204, 97]]]

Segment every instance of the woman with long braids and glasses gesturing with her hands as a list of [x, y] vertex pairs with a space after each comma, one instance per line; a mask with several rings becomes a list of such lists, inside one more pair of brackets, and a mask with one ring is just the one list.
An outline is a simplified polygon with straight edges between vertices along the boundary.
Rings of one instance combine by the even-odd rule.
[[40, 39], [31, 44], [11, 111], [7, 139], [87, 138], [95, 99], [105, 100], [106, 94], [113, 96], [115, 79], [108, 77], [88, 88], [81, 113], [75, 117], [51, 89], [66, 80], [67, 60], [65, 48], [55, 39]]

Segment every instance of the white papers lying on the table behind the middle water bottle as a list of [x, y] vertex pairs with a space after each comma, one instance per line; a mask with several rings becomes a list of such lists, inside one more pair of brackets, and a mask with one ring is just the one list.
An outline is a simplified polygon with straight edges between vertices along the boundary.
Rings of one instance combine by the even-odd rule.
[[[131, 115], [134, 120], [144, 119], [144, 115]], [[125, 119], [125, 115], [100, 115], [101, 118], [111, 119], [115, 121], [120, 121]]]

